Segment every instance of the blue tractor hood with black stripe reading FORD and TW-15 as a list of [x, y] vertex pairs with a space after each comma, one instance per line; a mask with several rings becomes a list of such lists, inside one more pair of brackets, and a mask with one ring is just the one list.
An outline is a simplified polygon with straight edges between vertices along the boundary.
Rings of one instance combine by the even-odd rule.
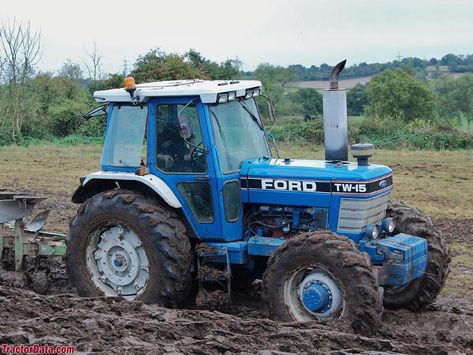
[[390, 168], [354, 162], [258, 158], [244, 162], [240, 176], [248, 202], [271, 203], [274, 198], [280, 204], [293, 198], [312, 200], [314, 194], [369, 197], [392, 189]]

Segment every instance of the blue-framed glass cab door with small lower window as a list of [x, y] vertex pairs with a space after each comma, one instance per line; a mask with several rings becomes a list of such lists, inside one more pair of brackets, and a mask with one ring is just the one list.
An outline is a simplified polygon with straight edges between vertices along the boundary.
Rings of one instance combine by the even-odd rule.
[[197, 97], [149, 103], [148, 167], [173, 190], [199, 239], [222, 240], [218, 182], [209, 154], [204, 107]]

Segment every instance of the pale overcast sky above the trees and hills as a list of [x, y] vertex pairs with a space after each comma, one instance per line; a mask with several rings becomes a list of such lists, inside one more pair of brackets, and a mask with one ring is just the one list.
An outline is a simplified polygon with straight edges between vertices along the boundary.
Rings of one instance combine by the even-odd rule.
[[471, 0], [25, 1], [2, 0], [0, 18], [41, 30], [42, 70], [82, 63], [94, 41], [105, 70], [121, 72], [151, 48], [194, 48], [215, 61], [238, 57], [305, 66], [430, 59], [473, 53]]

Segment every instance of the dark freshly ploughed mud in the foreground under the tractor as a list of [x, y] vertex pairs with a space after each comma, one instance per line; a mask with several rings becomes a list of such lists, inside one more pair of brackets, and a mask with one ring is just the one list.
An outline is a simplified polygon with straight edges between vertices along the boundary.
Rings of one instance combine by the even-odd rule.
[[[65, 223], [75, 208], [66, 200], [43, 205], [53, 208], [54, 224]], [[63, 214], [54, 214], [57, 209]], [[473, 220], [437, 225], [449, 244], [473, 242]], [[106, 353], [473, 353], [473, 302], [465, 298], [441, 296], [421, 313], [385, 310], [378, 334], [363, 337], [343, 322], [269, 320], [258, 282], [231, 301], [203, 294], [195, 309], [170, 310], [79, 298], [60, 258], [28, 260], [26, 266], [32, 278], [0, 272], [0, 344], [74, 345], [78, 351]], [[452, 269], [465, 271], [471, 270]]]

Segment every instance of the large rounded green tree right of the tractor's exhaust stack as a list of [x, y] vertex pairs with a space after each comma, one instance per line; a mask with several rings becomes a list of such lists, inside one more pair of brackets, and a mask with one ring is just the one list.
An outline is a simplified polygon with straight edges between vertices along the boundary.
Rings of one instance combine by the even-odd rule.
[[405, 70], [386, 70], [373, 77], [367, 87], [365, 114], [371, 118], [404, 123], [432, 120], [435, 97], [430, 87]]

